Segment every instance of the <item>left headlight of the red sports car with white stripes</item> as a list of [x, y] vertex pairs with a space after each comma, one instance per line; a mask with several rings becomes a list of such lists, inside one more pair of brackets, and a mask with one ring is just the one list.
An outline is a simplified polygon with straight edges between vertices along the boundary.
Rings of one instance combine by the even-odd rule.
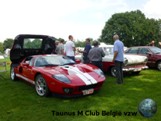
[[53, 75], [53, 78], [57, 79], [60, 82], [64, 82], [64, 83], [71, 83], [71, 81], [63, 74], [55, 74]]

